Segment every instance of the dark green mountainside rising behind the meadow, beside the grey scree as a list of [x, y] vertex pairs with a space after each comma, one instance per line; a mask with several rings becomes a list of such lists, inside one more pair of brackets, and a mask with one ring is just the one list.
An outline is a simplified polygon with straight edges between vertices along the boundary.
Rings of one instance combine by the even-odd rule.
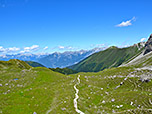
[[138, 50], [137, 46], [127, 48], [117, 48], [113, 46], [95, 53], [69, 68], [79, 72], [97, 72], [106, 68], [118, 67], [141, 51], [142, 50]]

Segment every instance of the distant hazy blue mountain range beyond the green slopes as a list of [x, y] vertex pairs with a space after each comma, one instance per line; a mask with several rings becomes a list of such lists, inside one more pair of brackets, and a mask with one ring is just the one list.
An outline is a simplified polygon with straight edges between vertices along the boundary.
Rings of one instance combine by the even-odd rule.
[[19, 59], [23, 61], [34, 61], [48, 68], [64, 68], [76, 64], [89, 55], [99, 52], [105, 48], [94, 48], [91, 50], [66, 51], [63, 53], [55, 52], [52, 54], [14, 54], [1, 55], [0, 60]]

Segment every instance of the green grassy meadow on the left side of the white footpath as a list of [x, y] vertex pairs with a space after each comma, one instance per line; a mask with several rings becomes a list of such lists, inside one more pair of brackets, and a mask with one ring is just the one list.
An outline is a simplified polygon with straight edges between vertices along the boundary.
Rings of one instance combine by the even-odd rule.
[[61, 114], [64, 108], [64, 113], [75, 113], [74, 77], [19, 60], [1, 61], [0, 66], [0, 113], [45, 114], [51, 109]]

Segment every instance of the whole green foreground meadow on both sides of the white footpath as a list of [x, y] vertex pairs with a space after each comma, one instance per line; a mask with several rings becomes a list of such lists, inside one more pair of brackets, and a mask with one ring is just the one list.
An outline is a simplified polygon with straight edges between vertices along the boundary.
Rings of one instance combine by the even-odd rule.
[[19, 60], [0, 61], [0, 113], [77, 114], [78, 75], [78, 108], [85, 114], [152, 113], [152, 81], [141, 81], [144, 75], [151, 80], [151, 74], [127, 66], [66, 76]]

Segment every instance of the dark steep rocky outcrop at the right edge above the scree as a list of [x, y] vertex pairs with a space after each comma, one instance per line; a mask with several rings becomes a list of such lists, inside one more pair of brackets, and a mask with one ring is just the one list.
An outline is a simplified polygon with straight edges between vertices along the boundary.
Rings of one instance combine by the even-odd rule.
[[152, 51], [152, 34], [150, 35], [148, 41], [145, 44], [144, 55]]

